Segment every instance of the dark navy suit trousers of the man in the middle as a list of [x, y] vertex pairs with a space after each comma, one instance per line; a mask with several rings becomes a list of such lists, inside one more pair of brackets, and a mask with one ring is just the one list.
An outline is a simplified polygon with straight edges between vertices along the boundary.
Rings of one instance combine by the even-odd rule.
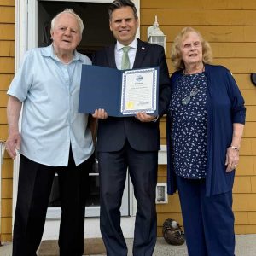
[[137, 199], [133, 255], [151, 256], [156, 241], [155, 187], [158, 152], [137, 151], [126, 141], [117, 152], [98, 152], [101, 188], [101, 232], [108, 256], [125, 256], [120, 206], [127, 168]]

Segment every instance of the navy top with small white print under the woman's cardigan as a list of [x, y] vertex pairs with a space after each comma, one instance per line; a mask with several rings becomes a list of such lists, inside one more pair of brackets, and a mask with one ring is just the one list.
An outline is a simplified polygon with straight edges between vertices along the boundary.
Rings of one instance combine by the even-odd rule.
[[207, 77], [204, 72], [183, 75], [169, 106], [174, 171], [192, 179], [206, 177]]

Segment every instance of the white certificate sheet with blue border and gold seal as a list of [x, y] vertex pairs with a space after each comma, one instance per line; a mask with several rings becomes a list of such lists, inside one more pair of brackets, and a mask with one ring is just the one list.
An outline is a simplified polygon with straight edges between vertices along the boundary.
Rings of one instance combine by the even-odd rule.
[[127, 70], [123, 73], [121, 113], [154, 113], [157, 105], [157, 69]]

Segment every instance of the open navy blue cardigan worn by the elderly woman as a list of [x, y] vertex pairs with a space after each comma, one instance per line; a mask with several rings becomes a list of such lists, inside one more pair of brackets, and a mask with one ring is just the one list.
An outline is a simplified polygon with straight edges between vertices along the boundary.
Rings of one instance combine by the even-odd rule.
[[[235, 172], [225, 172], [226, 150], [232, 142], [233, 123], [245, 124], [246, 108], [241, 92], [230, 71], [222, 66], [205, 65], [207, 76], [207, 192], [217, 195], [230, 191]], [[171, 76], [172, 92], [183, 70]], [[172, 163], [171, 119], [167, 114], [167, 188], [168, 194], [177, 190]]]

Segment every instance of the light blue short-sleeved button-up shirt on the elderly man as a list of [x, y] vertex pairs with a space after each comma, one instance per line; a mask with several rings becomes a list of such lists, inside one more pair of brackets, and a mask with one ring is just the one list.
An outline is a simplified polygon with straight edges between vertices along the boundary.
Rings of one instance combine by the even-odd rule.
[[82, 64], [74, 52], [62, 63], [50, 45], [31, 49], [10, 84], [8, 94], [23, 102], [20, 153], [47, 166], [67, 166], [69, 148], [78, 166], [93, 153], [88, 115], [78, 113]]

